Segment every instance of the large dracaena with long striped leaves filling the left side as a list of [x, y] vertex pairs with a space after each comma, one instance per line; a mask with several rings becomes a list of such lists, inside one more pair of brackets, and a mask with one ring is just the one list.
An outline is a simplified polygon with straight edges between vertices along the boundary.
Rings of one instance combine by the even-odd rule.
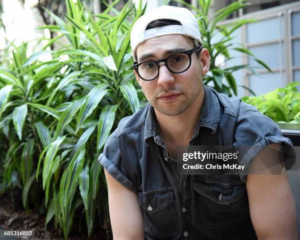
[[[44, 204], [46, 225], [54, 221], [66, 238], [78, 213], [89, 235], [95, 213], [109, 231], [98, 156], [119, 120], [145, 103], [129, 46], [132, 23], [145, 8], [129, 1], [118, 12], [117, 2], [93, 16], [79, 0], [66, 0], [65, 18], [48, 11], [57, 25], [44, 27], [60, 34], [29, 58], [26, 44], [13, 48], [0, 70], [0, 139], [7, 139], [0, 143], [2, 192], [18, 186], [25, 208]], [[53, 43], [59, 48], [46, 50]]]

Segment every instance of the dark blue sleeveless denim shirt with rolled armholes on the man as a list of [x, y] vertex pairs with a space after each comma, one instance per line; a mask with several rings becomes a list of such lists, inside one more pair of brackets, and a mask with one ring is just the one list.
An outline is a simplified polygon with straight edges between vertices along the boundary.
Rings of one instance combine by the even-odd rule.
[[[277, 124], [255, 107], [204, 86], [202, 112], [190, 145], [273, 143], [291, 145]], [[178, 175], [150, 104], [120, 121], [99, 160], [117, 181], [137, 193], [146, 239], [257, 239], [247, 178]]]

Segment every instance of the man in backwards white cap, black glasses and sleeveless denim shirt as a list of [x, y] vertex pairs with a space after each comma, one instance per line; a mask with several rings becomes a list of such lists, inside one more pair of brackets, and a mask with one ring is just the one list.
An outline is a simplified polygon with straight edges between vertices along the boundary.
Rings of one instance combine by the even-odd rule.
[[114, 239], [298, 239], [285, 174], [177, 174], [178, 145], [291, 144], [253, 106], [203, 86], [210, 56], [193, 14], [150, 11], [131, 48], [149, 104], [120, 121], [100, 155]]

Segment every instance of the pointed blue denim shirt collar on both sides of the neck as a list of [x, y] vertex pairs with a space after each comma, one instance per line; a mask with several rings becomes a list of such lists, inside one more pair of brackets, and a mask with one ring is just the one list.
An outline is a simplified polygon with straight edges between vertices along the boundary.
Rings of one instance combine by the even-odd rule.
[[[199, 134], [200, 127], [207, 127], [212, 130], [212, 134], [216, 132], [220, 123], [220, 104], [216, 96], [217, 93], [210, 87], [203, 85], [204, 99], [202, 105], [202, 111], [196, 129], [194, 130], [192, 139], [196, 138]], [[157, 120], [154, 112], [154, 108], [149, 104], [147, 117], [145, 121], [145, 136], [144, 141], [147, 144], [147, 139], [154, 137], [156, 144], [162, 145], [162, 137], [157, 127]], [[148, 146], [148, 144], [147, 144]]]

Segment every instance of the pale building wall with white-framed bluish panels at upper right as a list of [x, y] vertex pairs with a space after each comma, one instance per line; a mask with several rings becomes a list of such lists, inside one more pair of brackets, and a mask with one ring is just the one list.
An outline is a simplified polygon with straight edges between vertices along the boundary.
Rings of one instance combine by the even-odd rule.
[[[236, 79], [242, 79], [239, 85], [244, 84], [260, 95], [292, 81], [300, 81], [300, 1], [242, 13], [239, 18], [251, 18], [259, 22], [238, 29], [234, 41], [245, 45], [274, 72], [260, 70], [257, 71], [259, 76], [246, 71], [237, 72]], [[233, 64], [250, 63], [255, 66], [249, 57], [243, 58], [242, 54], [238, 57]], [[249, 94], [248, 91], [244, 91], [245, 94], [242, 91], [240, 89], [239, 95]]]

